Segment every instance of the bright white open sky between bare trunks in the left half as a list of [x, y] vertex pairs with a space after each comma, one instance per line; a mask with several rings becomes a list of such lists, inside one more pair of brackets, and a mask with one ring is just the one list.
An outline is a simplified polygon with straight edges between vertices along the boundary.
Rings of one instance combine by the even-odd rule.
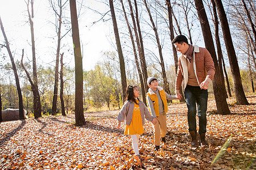
[[[86, 0], [83, 3], [93, 10], [101, 12], [109, 10], [108, 6], [96, 0]], [[77, 4], [77, 7], [78, 6]], [[0, 16], [11, 50], [13, 51], [14, 59], [21, 58], [22, 49], [24, 48], [24, 59], [26, 58], [28, 61], [32, 60], [32, 52], [30, 46], [31, 34], [26, 9], [25, 1], [0, 0]], [[47, 0], [36, 0], [34, 2], [34, 30], [37, 63], [54, 66], [55, 49], [57, 45], [56, 37], [55, 40], [53, 40], [53, 35], [56, 35], [55, 29], [53, 25], [49, 24], [49, 20], [55, 18], [51, 12], [52, 10], [49, 8]], [[93, 69], [97, 61], [102, 59], [102, 51], [114, 50], [108, 40], [112, 32], [112, 27], [110, 27], [110, 22], [97, 22], [96, 24], [92, 24], [101, 17], [88, 8], [83, 8], [81, 13], [82, 15], [79, 16], [79, 31], [83, 55], [83, 69], [89, 71]], [[66, 16], [68, 18], [70, 17], [69, 5], [67, 6]], [[62, 24], [62, 27], [64, 28], [64, 24]], [[65, 32], [64, 29], [63, 32]], [[65, 37], [66, 39], [62, 41], [63, 44], [72, 46], [71, 33]], [[0, 33], [0, 42], [3, 42], [2, 32]], [[73, 49], [71, 50], [73, 52]], [[63, 49], [62, 52], [64, 52], [64, 62], [73, 67], [75, 65], [75, 59], [71, 52], [68, 53], [65, 49]], [[0, 59], [2, 59], [2, 57]], [[9, 56], [7, 56], [7, 59], [9, 59]]]

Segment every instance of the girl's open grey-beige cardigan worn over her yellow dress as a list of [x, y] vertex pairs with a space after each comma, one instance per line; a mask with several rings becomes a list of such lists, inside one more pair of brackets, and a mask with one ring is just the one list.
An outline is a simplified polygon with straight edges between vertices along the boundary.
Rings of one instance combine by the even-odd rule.
[[[133, 101], [131, 101], [131, 100], [126, 101], [117, 116], [117, 120], [119, 122], [125, 121], [126, 125], [130, 125], [131, 120], [133, 119], [133, 109], [134, 109]], [[144, 125], [144, 123], [145, 123], [145, 118], [148, 121], [153, 120], [153, 116], [151, 116], [146, 105], [142, 101], [139, 101], [139, 110], [141, 111], [142, 125]]]

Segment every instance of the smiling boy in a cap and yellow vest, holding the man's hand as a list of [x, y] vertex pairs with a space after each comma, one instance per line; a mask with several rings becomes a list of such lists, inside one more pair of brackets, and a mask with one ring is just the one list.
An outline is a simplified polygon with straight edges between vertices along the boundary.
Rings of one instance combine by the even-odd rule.
[[147, 92], [147, 103], [150, 107], [150, 113], [157, 122], [154, 125], [154, 141], [155, 150], [158, 151], [160, 148], [160, 137], [162, 142], [166, 143], [166, 112], [168, 111], [167, 99], [177, 99], [176, 96], [168, 95], [162, 87], [158, 86], [158, 80], [154, 77], [148, 77], [147, 85], [150, 87]]

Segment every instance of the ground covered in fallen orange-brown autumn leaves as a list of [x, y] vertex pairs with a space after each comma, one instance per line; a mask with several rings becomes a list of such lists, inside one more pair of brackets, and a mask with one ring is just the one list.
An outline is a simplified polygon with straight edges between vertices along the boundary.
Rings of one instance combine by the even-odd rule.
[[115, 128], [118, 111], [86, 113], [82, 127], [73, 125], [73, 114], [1, 122], [0, 169], [256, 169], [256, 95], [247, 100], [250, 105], [228, 99], [232, 114], [225, 116], [214, 114], [209, 100], [205, 148], [189, 146], [185, 103], [170, 105], [167, 143], [154, 151], [146, 122], [141, 163], [130, 137]]

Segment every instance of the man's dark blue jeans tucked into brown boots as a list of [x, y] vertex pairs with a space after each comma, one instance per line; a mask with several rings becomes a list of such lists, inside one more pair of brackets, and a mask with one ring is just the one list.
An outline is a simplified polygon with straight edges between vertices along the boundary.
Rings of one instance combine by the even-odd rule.
[[208, 91], [201, 90], [199, 86], [187, 85], [184, 90], [184, 95], [188, 107], [188, 131], [196, 130], [196, 103], [199, 117], [199, 134], [206, 132], [207, 126], [207, 100]]

